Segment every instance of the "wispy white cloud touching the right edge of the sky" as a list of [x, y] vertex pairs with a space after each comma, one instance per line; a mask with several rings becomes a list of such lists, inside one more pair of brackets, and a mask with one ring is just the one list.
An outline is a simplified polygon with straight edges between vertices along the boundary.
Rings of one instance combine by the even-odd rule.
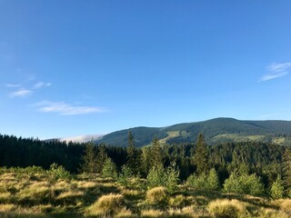
[[266, 67], [267, 73], [259, 79], [259, 82], [265, 82], [285, 76], [286, 74], [289, 74], [288, 70], [290, 68], [291, 62], [270, 64]]

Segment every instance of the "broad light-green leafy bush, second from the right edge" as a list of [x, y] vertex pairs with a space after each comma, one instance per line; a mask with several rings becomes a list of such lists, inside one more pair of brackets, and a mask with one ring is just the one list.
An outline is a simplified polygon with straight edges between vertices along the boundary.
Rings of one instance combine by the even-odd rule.
[[241, 193], [262, 195], [264, 193], [264, 185], [260, 181], [260, 177], [253, 174], [238, 174], [232, 173], [224, 184], [224, 190], [227, 193]]

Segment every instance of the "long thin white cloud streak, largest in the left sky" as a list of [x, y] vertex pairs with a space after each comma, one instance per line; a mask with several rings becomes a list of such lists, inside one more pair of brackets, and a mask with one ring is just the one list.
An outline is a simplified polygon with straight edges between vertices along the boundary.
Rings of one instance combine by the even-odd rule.
[[71, 104], [65, 104], [64, 102], [42, 101], [35, 105], [41, 112], [57, 113], [62, 115], [91, 114], [104, 112], [104, 110], [100, 107], [75, 106]]

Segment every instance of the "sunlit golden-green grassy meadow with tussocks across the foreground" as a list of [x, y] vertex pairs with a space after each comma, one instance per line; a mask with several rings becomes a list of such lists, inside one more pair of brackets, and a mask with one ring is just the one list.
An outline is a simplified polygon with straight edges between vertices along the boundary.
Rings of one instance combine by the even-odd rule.
[[196, 190], [148, 190], [99, 174], [58, 178], [45, 171], [0, 174], [0, 217], [291, 217], [291, 200]]

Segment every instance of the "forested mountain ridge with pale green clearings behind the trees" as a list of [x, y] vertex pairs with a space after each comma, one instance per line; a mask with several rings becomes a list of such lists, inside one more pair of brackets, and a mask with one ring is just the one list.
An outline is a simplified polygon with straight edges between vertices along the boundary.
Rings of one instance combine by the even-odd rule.
[[291, 121], [243, 121], [224, 117], [167, 127], [130, 128], [105, 134], [95, 143], [126, 146], [129, 131], [135, 137], [136, 146], [150, 144], [155, 136], [162, 144], [196, 142], [196, 136], [199, 133], [205, 135], [207, 144], [246, 141], [291, 144]]

